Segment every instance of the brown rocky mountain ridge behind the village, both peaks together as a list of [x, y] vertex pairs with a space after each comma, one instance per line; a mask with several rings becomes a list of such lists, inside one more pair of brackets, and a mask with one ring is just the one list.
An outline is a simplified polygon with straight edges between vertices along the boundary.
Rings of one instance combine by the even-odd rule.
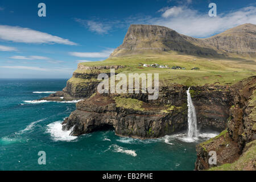
[[121, 46], [110, 57], [179, 51], [192, 55], [228, 56], [256, 53], [256, 26], [243, 24], [207, 39], [181, 35], [162, 26], [132, 24]]

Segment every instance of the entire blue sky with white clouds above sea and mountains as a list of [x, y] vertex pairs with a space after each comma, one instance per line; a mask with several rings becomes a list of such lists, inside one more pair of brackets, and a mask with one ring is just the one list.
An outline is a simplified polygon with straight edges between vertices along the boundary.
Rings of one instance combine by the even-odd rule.
[[[38, 4], [46, 4], [46, 17]], [[208, 15], [209, 3], [217, 16]], [[105, 60], [130, 24], [205, 38], [256, 24], [255, 1], [0, 1], [0, 78], [69, 78], [79, 61]]]

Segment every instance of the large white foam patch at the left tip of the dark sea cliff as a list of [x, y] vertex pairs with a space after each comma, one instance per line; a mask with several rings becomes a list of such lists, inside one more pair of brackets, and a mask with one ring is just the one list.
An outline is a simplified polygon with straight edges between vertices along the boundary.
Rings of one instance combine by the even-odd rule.
[[77, 137], [69, 135], [71, 130], [62, 130], [62, 121], [56, 121], [47, 125], [47, 133], [51, 135], [55, 141], [67, 141], [75, 140]]

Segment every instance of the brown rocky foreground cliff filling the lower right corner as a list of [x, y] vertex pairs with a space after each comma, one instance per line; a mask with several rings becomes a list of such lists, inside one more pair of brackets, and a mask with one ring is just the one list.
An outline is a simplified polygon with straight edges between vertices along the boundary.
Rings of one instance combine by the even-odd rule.
[[[197, 170], [227, 165], [226, 163], [230, 163], [229, 168], [221, 166], [219, 169], [256, 169], [255, 155], [251, 155], [251, 152], [255, 151], [251, 151], [250, 155], [246, 152], [248, 146], [255, 148], [255, 142], [248, 143], [256, 139], [256, 76], [246, 78], [231, 86], [230, 94], [233, 102], [229, 109], [227, 129], [217, 137], [196, 147]], [[209, 151], [216, 151], [217, 165], [208, 163]], [[245, 157], [245, 155], [249, 156]], [[241, 158], [246, 159], [241, 160]]]

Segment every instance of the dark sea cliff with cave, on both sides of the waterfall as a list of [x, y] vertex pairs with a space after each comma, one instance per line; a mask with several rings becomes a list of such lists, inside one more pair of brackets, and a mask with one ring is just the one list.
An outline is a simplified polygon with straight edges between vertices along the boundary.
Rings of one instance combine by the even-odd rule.
[[[117, 135], [134, 138], [158, 138], [187, 129], [188, 86], [173, 84], [160, 87], [159, 98], [148, 100], [147, 94], [93, 94], [77, 103], [63, 122], [72, 135], [112, 127]], [[225, 129], [232, 103], [227, 86], [192, 86], [199, 127]]]

